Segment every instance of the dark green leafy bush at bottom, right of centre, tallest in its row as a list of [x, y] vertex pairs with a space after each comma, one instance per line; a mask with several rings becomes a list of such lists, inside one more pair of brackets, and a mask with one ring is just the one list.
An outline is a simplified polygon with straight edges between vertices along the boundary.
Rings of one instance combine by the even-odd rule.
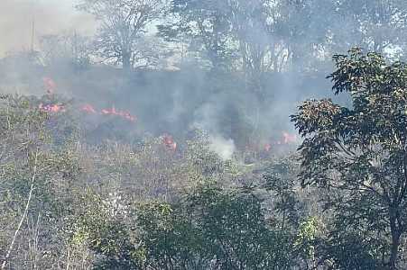
[[192, 210], [211, 264], [221, 269], [288, 269], [289, 239], [265, 217], [263, 199], [250, 189], [204, 184], [191, 193]]

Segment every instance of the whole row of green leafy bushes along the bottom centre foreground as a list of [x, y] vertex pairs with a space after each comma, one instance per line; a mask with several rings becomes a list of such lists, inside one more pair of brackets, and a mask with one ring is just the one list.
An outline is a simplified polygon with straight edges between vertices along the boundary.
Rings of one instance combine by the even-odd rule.
[[[273, 227], [265, 216], [264, 201], [246, 189], [200, 184], [179, 202], [136, 203], [127, 217], [106, 215], [103, 202], [97, 197], [90, 204], [93, 208], [80, 216], [72, 238], [85, 239], [103, 256], [100, 267], [289, 269], [295, 265], [294, 247], [300, 240], [294, 245], [290, 233]], [[313, 239], [305, 233], [300, 234], [301, 247]]]

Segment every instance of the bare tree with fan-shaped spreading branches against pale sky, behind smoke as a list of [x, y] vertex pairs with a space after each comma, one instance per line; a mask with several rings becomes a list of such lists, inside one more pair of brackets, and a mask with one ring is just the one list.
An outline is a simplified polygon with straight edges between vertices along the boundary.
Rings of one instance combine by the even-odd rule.
[[96, 49], [108, 61], [130, 70], [139, 56], [139, 42], [149, 23], [158, 19], [165, 0], [82, 0], [80, 10], [100, 21]]

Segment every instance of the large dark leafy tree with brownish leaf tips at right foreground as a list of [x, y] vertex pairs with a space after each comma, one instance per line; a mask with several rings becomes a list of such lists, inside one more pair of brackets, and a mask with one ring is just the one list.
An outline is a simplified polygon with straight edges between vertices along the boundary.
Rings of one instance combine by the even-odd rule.
[[310, 100], [291, 116], [304, 137], [300, 179], [328, 191], [337, 224], [375, 232], [396, 269], [407, 229], [407, 65], [361, 49], [334, 59], [333, 91], [352, 106]]

